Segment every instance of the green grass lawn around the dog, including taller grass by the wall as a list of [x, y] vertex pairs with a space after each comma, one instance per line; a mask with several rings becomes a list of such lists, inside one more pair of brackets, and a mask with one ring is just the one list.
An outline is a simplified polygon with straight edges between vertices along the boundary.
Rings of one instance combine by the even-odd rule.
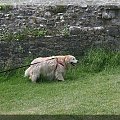
[[31, 83], [24, 70], [0, 77], [0, 114], [120, 114], [119, 53], [92, 52], [64, 82]]

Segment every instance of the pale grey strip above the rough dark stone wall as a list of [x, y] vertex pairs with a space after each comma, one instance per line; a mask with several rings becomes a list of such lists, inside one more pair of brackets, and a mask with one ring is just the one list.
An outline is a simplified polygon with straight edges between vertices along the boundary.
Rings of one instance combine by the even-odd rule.
[[0, 0], [0, 4], [37, 4], [37, 5], [108, 5], [120, 4], [119, 0]]

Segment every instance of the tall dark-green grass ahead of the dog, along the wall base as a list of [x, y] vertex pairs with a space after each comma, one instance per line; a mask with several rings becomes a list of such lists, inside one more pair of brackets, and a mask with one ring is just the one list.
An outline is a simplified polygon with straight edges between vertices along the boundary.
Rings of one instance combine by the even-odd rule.
[[90, 74], [109, 71], [120, 65], [120, 51], [91, 49], [85, 53], [79, 63], [66, 73], [66, 79], [73, 80]]

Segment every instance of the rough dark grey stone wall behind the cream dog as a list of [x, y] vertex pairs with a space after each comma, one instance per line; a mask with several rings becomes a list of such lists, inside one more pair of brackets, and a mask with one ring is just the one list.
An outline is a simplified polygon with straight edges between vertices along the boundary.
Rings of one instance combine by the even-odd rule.
[[[25, 28], [44, 37], [2, 40]], [[66, 35], [67, 33], [67, 35]], [[120, 50], [120, 6], [12, 6], [0, 10], [0, 66], [23, 64], [28, 56], [83, 55], [91, 47]]]

